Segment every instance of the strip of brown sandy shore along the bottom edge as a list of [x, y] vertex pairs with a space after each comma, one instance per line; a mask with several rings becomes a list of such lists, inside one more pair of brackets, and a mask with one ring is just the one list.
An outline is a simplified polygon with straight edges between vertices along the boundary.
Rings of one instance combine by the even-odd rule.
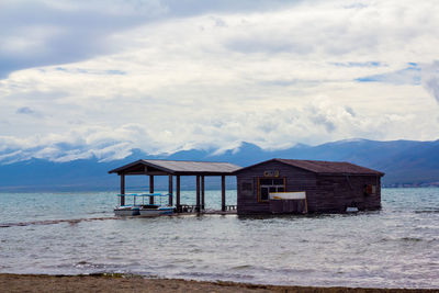
[[77, 275], [0, 273], [1, 292], [439, 292], [438, 289], [379, 289], [345, 286], [294, 286], [236, 283], [227, 281], [194, 281], [183, 279], [145, 278], [136, 274], [99, 273]]

